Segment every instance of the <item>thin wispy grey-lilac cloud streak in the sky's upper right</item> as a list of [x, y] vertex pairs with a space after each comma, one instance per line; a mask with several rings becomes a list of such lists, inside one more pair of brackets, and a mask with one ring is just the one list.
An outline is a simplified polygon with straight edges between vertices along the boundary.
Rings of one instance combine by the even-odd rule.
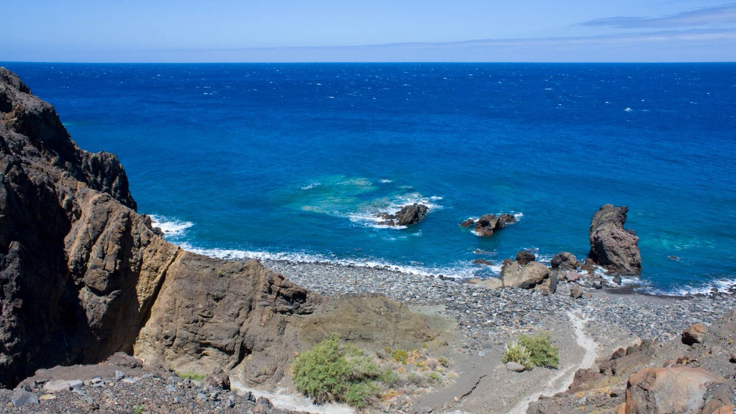
[[736, 3], [706, 7], [657, 18], [610, 17], [582, 23], [583, 26], [633, 28], [723, 27], [736, 24]]

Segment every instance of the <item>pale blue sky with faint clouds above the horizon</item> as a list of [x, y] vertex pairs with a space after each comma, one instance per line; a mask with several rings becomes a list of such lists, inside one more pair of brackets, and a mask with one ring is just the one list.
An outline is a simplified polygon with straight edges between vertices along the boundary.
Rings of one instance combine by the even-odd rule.
[[708, 0], [10, 1], [0, 61], [736, 61]]

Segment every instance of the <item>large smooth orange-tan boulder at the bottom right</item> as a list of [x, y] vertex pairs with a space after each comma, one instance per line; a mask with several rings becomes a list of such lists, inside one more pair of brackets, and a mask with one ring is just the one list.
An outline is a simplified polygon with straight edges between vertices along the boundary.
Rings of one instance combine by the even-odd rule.
[[643, 368], [626, 385], [626, 414], [701, 413], [706, 385], [715, 381], [701, 368]]

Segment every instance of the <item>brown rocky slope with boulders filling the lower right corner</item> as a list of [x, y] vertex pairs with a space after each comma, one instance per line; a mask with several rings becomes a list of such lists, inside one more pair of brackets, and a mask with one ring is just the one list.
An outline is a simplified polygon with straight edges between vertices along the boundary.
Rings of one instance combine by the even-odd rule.
[[643, 340], [576, 372], [570, 387], [530, 404], [528, 414], [732, 413], [736, 313], [716, 320], [702, 342]]

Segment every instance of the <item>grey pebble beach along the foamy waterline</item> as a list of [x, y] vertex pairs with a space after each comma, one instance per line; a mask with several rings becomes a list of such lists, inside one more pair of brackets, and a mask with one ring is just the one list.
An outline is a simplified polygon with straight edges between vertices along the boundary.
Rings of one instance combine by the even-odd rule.
[[[324, 295], [370, 292], [406, 304], [442, 304], [458, 318], [459, 326], [469, 337], [469, 351], [505, 343], [520, 333], [552, 329], [555, 323], [567, 321], [567, 311], [587, 319], [591, 337], [603, 348], [611, 348], [639, 338], [670, 340], [687, 326], [696, 322], [710, 324], [736, 306], [736, 296], [732, 294], [621, 294], [615, 288], [597, 290], [586, 277], [581, 277], [579, 283], [560, 281], [556, 293], [544, 295], [542, 290], [491, 290], [461, 280], [383, 267], [277, 260], [263, 260], [263, 264]], [[590, 298], [571, 298], [573, 284], [590, 293]]]

